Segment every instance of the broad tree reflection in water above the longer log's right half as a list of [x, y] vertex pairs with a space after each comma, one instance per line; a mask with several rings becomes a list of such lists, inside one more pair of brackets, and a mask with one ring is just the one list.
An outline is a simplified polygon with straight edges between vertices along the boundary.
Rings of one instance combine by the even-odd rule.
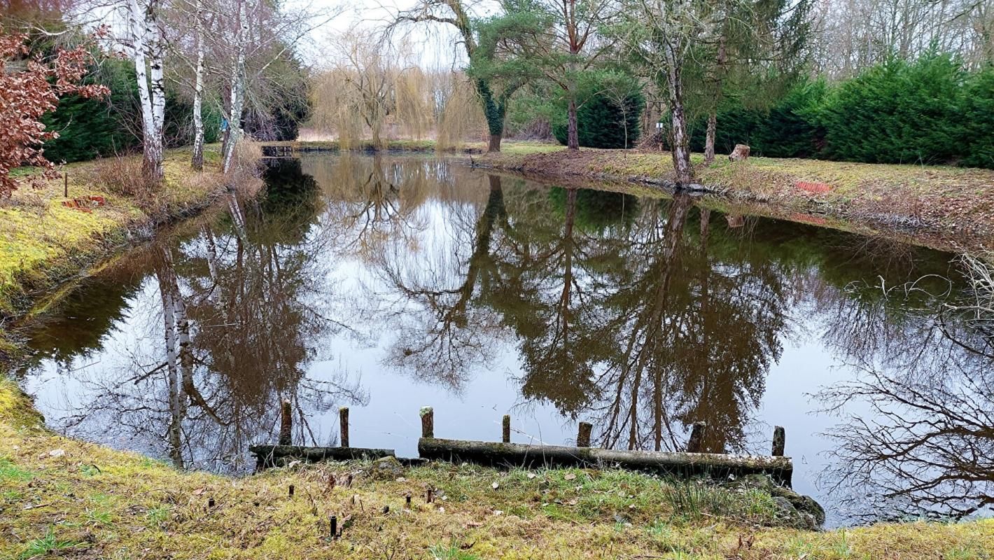
[[604, 446], [679, 449], [689, 425], [707, 422], [706, 450], [742, 449], [781, 352], [782, 272], [747, 251], [709, 248], [710, 214], [695, 238], [691, 208], [683, 196], [647, 205], [621, 245], [629, 269], [611, 282], [601, 333], [617, 350], [596, 381], [612, 388], [595, 409]]

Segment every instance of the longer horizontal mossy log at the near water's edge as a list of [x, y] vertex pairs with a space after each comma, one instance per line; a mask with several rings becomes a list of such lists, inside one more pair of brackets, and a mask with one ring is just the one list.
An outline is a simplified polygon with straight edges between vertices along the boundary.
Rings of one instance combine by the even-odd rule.
[[422, 459], [490, 467], [621, 467], [718, 479], [762, 473], [785, 486], [790, 486], [794, 470], [793, 462], [787, 457], [600, 450], [437, 438], [420, 438], [417, 453]]

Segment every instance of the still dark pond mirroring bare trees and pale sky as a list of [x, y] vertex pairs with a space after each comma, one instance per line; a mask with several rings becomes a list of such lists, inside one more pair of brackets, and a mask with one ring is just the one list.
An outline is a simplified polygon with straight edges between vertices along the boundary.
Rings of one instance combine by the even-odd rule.
[[[833, 524], [983, 511], [989, 324], [953, 255], [722, 201], [418, 156], [311, 155], [163, 233], [33, 326], [49, 424], [178, 467], [294, 441], [416, 457], [441, 438], [768, 455]], [[913, 282], [913, 283], [910, 283]]]

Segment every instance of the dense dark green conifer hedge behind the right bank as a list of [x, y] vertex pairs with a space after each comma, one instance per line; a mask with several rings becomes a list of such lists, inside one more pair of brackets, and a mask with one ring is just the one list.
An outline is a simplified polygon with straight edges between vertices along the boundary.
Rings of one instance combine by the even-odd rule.
[[[704, 118], [693, 123], [693, 149], [704, 149], [705, 129]], [[968, 72], [931, 53], [831, 86], [805, 80], [768, 110], [719, 111], [716, 149], [736, 143], [769, 157], [994, 168], [994, 67]]]

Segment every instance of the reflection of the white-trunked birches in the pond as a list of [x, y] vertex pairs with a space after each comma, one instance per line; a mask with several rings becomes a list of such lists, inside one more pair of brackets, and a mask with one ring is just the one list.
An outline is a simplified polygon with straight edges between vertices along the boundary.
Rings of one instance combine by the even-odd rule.
[[273, 434], [280, 399], [300, 415], [301, 442], [318, 438], [304, 411], [365, 400], [344, 372], [305, 373], [319, 356], [315, 342], [337, 325], [318, 296], [331, 289], [320, 244], [307, 235], [318, 207], [301, 200], [317, 196], [315, 185], [299, 168], [295, 175], [270, 181], [260, 204], [233, 199], [220, 230], [205, 226], [178, 248], [150, 250], [162, 322], [149, 333], [161, 342], [147, 354], [164, 359], [101, 377], [71, 426], [99, 418], [111, 433], [164, 446], [178, 467], [240, 468], [248, 444]]

